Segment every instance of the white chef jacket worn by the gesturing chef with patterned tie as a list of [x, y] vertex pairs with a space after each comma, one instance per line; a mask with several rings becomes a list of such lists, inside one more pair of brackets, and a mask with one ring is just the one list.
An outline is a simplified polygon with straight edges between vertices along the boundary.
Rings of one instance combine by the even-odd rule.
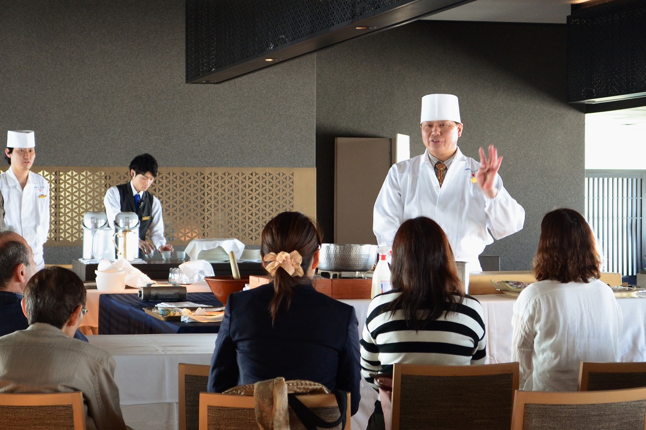
[[[503, 187], [496, 175], [498, 194], [490, 199], [475, 183], [480, 163], [457, 148], [440, 187], [435, 169], [424, 154], [393, 165], [373, 210], [373, 232], [379, 246], [390, 246], [402, 222], [428, 216], [444, 230], [456, 261], [480, 271], [478, 256], [486, 245], [523, 228], [525, 209]], [[490, 233], [491, 232], [491, 233]]]

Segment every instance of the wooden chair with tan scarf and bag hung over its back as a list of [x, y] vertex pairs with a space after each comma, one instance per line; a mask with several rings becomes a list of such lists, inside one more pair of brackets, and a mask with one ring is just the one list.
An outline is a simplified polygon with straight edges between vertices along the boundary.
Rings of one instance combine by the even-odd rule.
[[[339, 407], [334, 394], [301, 394], [304, 405], [329, 422], [339, 418]], [[253, 396], [239, 394], [200, 393], [200, 430], [247, 430], [257, 429]], [[298, 417], [289, 408], [289, 428], [305, 430]], [[341, 426], [335, 427], [340, 429]], [[350, 394], [346, 429], [350, 429]]]

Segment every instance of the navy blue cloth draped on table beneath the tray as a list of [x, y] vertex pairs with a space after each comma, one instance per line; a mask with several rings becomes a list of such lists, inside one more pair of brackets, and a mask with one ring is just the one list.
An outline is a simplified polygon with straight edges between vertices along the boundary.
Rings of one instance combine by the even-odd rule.
[[[189, 292], [187, 301], [212, 307], [222, 306], [211, 292]], [[99, 296], [99, 334], [218, 333], [220, 322], [183, 323], [161, 321], [143, 311], [160, 301], [144, 301], [137, 294]]]

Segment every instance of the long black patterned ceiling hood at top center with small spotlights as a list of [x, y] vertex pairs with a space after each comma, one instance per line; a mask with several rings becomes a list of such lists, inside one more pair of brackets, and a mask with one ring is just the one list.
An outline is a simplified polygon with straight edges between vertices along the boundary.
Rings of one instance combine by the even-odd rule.
[[186, 82], [220, 83], [473, 0], [186, 0]]

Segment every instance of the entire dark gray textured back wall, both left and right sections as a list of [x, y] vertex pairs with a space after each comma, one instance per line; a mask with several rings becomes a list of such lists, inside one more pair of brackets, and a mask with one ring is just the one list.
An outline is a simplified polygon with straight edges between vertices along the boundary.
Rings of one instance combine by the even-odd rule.
[[[525, 229], [486, 250], [529, 269], [539, 221], [583, 209], [583, 114], [564, 103], [565, 26], [419, 21], [220, 85], [184, 83], [180, 0], [0, 0], [0, 130], [36, 130], [39, 165], [317, 167], [333, 234], [334, 136], [412, 136], [421, 97], [457, 94], [475, 156], [494, 143]], [[52, 247], [48, 262], [79, 249]]]

